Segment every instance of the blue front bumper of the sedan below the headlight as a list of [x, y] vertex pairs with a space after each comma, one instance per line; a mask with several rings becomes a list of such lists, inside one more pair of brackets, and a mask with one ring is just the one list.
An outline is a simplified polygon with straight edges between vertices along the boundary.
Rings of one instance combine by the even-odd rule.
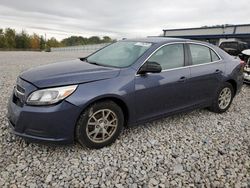
[[13, 97], [8, 104], [8, 119], [14, 134], [32, 142], [70, 144], [81, 110], [67, 101], [52, 106], [19, 106]]

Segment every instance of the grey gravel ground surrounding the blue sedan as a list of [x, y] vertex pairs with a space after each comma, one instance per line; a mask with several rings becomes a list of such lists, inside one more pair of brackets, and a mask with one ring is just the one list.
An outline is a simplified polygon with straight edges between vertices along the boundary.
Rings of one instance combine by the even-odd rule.
[[28, 144], [9, 133], [17, 75], [81, 53], [0, 53], [0, 187], [250, 187], [250, 86], [227, 113], [196, 110], [126, 129], [110, 147]]

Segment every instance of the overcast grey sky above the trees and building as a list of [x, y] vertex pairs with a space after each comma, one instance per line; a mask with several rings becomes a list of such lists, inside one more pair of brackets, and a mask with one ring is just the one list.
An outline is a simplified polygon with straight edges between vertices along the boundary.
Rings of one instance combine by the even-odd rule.
[[162, 29], [250, 23], [249, 0], [0, 0], [0, 27], [57, 39], [121, 39]]

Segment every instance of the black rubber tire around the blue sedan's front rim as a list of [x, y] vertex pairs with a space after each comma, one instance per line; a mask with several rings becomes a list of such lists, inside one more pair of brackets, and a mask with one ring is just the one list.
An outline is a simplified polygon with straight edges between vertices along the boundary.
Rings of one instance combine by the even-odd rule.
[[[86, 127], [89, 120], [89, 117], [95, 113], [98, 110], [101, 109], [110, 109], [112, 110], [118, 119], [118, 126], [116, 128], [115, 133], [112, 135], [110, 139], [103, 143], [95, 143], [92, 140], [89, 139], [86, 133]], [[90, 107], [88, 107], [80, 116], [77, 126], [76, 126], [76, 137], [78, 142], [80, 142], [81, 145], [91, 148], [91, 149], [99, 149], [105, 146], [108, 146], [112, 144], [120, 135], [122, 129], [124, 127], [124, 115], [122, 109], [113, 101], [103, 101], [98, 102]]]

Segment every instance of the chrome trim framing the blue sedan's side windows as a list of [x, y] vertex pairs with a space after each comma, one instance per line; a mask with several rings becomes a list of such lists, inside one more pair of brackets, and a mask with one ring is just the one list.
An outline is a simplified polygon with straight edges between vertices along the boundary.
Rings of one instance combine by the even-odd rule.
[[[208, 65], [208, 64], [213, 64], [213, 63], [220, 63], [223, 59], [221, 58], [221, 56], [213, 49], [211, 48], [209, 45], [206, 45], [206, 44], [203, 44], [203, 43], [199, 43], [199, 42], [192, 42], [192, 41], [185, 41], [185, 42], [170, 42], [170, 43], [166, 43], [166, 44], [163, 44], [161, 46], [159, 46], [157, 49], [155, 49], [144, 61], [143, 63], [141, 64], [141, 66], [138, 68], [138, 70], [136, 71], [136, 74], [135, 76], [141, 76], [140, 74], [138, 74], [138, 71], [140, 70], [140, 68], [149, 60], [149, 58], [155, 54], [156, 51], [158, 51], [159, 49], [161, 49], [162, 47], [164, 46], [167, 46], [167, 45], [171, 45], [171, 44], [183, 44], [184, 46], [184, 66], [183, 67], [177, 67], [177, 68], [172, 68], [172, 69], [165, 69], [165, 70], [162, 70], [160, 73], [162, 72], [168, 72], [168, 71], [172, 71], [172, 70], [178, 70], [178, 69], [185, 69], [185, 68], [191, 68], [191, 67], [197, 67], [197, 66], [202, 66], [202, 65]], [[210, 50], [212, 50], [218, 57], [219, 57], [219, 60], [217, 61], [212, 61], [212, 62], [208, 62], [208, 63], [203, 63], [203, 64], [197, 64], [197, 65], [193, 65], [193, 62], [192, 64], [190, 64], [189, 62], [186, 64], [186, 58], [187, 58], [187, 55], [189, 56], [188, 57], [188, 60], [192, 60], [191, 59], [191, 52], [190, 52], [190, 48], [189, 48], [189, 44], [196, 44], [196, 45], [201, 45], [201, 46], [205, 46], [205, 47], [208, 47]], [[189, 54], [186, 54], [187, 53], [187, 49], [188, 48], [188, 53]], [[148, 73], [148, 74], [151, 74], [151, 73]]]

